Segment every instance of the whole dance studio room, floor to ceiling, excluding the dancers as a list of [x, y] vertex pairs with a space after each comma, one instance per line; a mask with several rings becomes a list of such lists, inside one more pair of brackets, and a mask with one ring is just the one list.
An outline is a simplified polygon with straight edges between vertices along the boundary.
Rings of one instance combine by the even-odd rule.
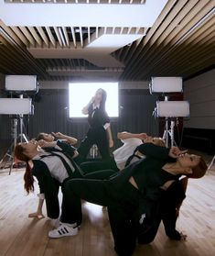
[[[214, 0], [0, 0], [1, 256], [215, 255], [214, 24]], [[154, 239], [118, 253], [109, 206], [83, 198], [78, 234], [51, 238], [46, 192], [43, 214], [29, 216], [41, 191], [32, 174], [34, 191], [27, 194], [28, 165], [16, 146], [37, 141], [43, 149], [35, 140], [43, 132], [75, 139], [81, 155], [91, 126], [82, 109], [100, 88], [110, 158], [126, 144], [118, 134], [127, 132], [160, 138], [165, 150], [206, 162], [201, 178], [188, 178], [175, 223], [180, 239], [167, 236], [161, 219]], [[93, 140], [85, 161], [103, 160], [101, 140]], [[61, 212], [60, 188], [58, 198]]]

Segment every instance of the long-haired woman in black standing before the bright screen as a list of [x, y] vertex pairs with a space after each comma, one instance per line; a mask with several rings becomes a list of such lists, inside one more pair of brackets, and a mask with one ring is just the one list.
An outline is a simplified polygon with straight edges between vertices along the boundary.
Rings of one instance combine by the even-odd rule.
[[113, 147], [112, 131], [110, 126], [110, 117], [105, 111], [105, 102], [107, 94], [100, 88], [87, 106], [84, 106], [82, 113], [88, 115], [88, 122], [90, 128], [81, 141], [78, 149], [83, 158], [87, 157], [89, 150], [93, 144], [98, 146], [103, 160], [110, 158], [109, 147]]

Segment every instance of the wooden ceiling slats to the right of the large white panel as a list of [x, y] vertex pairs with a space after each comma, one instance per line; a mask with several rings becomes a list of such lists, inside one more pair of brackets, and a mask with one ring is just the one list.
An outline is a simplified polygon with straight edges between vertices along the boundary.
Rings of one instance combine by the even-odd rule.
[[[214, 1], [168, 1], [168, 6], [161, 14], [164, 17], [163, 21], [155, 24], [153, 29], [150, 29], [142, 42], [133, 50], [134, 54], [124, 56], [126, 67], [124, 70], [124, 79], [148, 79], [154, 73], [156, 75], [172, 74], [182, 75], [186, 77], [190, 75], [189, 56], [194, 55], [195, 64], [199, 62], [198, 69], [204, 67], [205, 63], [214, 64]], [[172, 6], [171, 6], [172, 4]], [[167, 10], [169, 10], [167, 12]], [[211, 12], [211, 13], [210, 13]], [[211, 23], [205, 20], [196, 29], [188, 32], [193, 28], [199, 20], [203, 19], [210, 13]], [[213, 14], [212, 14], [213, 13]], [[167, 15], [167, 17], [165, 17]], [[211, 25], [213, 24], [213, 27]], [[210, 28], [211, 48], [208, 50], [211, 58], [203, 54], [203, 59], [199, 59], [195, 49], [203, 53], [208, 46], [199, 40], [198, 44], [188, 48], [190, 42], [198, 36], [198, 31], [206, 31]], [[188, 37], [185, 38], [186, 34]], [[179, 41], [183, 39], [183, 41]], [[184, 52], [184, 55], [181, 54]], [[119, 58], [122, 58], [121, 56]], [[204, 59], [206, 62], [204, 62]], [[183, 61], [184, 70], [181, 66], [178, 67], [177, 62]], [[170, 62], [169, 62], [170, 61]], [[187, 63], [186, 63], [187, 62]], [[200, 65], [202, 63], [202, 66]], [[174, 70], [172, 70], [174, 68]], [[186, 72], [187, 71], [187, 72]], [[135, 78], [134, 78], [135, 77]]]

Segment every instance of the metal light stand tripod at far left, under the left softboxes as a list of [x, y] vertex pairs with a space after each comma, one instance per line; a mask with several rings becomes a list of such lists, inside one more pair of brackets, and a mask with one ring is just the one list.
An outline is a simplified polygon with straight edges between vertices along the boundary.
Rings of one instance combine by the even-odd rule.
[[[20, 133], [17, 136], [18, 121], [19, 121]], [[12, 126], [12, 130], [11, 130], [13, 142], [11, 143], [8, 150], [6, 150], [3, 159], [0, 161], [0, 169], [5, 169], [9, 163], [9, 167], [10, 167], [9, 174], [11, 173], [13, 164], [14, 164], [14, 149], [16, 147], [17, 141], [19, 141], [19, 142], [23, 142], [23, 141], [27, 142], [28, 141], [27, 136], [23, 133], [23, 128], [24, 128], [23, 115], [19, 115], [19, 118], [17, 118], [17, 117], [13, 118], [13, 126]], [[7, 161], [6, 161], [6, 158], [8, 158]]]

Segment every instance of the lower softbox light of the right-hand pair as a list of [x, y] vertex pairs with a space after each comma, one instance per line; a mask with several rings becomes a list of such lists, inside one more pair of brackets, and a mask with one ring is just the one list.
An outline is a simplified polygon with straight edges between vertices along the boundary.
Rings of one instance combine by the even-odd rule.
[[157, 117], [189, 117], [188, 101], [157, 101]]

